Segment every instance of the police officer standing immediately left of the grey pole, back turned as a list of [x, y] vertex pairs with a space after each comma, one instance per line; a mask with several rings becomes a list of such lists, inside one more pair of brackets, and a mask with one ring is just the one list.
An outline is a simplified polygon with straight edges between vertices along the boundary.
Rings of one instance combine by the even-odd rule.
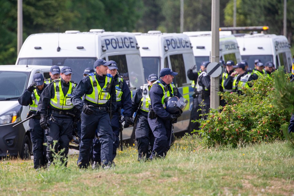
[[[196, 84], [198, 93], [198, 103], [201, 104], [202, 100], [204, 100], [203, 106], [201, 108], [202, 114], [208, 113], [208, 110], [210, 108], [210, 77], [206, 72], [206, 68], [209, 63], [209, 61], [202, 62], [202, 65], [204, 66], [204, 71], [201, 72], [201, 74], [198, 76]], [[205, 119], [206, 117], [202, 116], [202, 118]]]

